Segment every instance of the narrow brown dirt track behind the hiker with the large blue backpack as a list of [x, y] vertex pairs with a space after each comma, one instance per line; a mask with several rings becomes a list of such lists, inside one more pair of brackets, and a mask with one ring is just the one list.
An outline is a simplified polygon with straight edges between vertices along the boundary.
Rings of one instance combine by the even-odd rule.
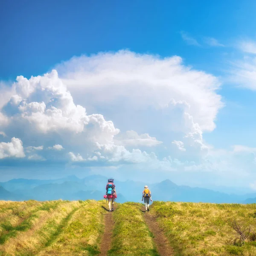
[[[114, 210], [116, 207], [114, 207]], [[113, 212], [107, 212], [105, 215], [105, 229], [100, 246], [99, 256], [107, 256], [108, 250], [111, 247], [112, 233], [114, 227]]]

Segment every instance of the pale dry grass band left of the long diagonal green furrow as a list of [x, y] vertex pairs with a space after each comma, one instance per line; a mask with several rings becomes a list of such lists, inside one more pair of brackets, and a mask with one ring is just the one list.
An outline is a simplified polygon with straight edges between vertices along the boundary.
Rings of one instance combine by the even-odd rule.
[[[53, 207], [51, 207], [53, 206]], [[61, 228], [67, 223], [75, 209], [81, 207], [77, 201], [51, 201], [44, 202], [35, 213], [25, 219], [16, 227], [3, 225], [7, 230], [2, 231], [1, 238], [4, 243], [0, 251], [4, 256], [30, 256], [36, 255], [41, 248], [51, 244], [56, 239]], [[3, 233], [7, 232], [7, 233]]]

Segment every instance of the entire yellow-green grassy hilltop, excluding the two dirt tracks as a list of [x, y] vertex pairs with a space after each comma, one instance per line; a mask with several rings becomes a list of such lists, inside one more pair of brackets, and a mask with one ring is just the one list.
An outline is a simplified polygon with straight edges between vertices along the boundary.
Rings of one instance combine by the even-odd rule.
[[[256, 256], [256, 204], [156, 201], [150, 213], [138, 203], [117, 204], [111, 213], [104, 206], [94, 200], [0, 201], [0, 256], [99, 255], [105, 214], [113, 217], [108, 256], [159, 256], [145, 214], [157, 217], [175, 256]], [[243, 246], [234, 221], [252, 229]]]

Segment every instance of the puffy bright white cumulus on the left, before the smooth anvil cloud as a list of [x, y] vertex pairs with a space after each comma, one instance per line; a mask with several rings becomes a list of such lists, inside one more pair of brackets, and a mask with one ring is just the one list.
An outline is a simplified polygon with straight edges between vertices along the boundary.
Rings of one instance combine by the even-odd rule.
[[[1, 134], [7, 137], [15, 134], [20, 138], [20, 142], [24, 141], [28, 160], [46, 160], [47, 157], [65, 157], [64, 155], [68, 154], [74, 162], [102, 160], [139, 163], [148, 156], [139, 149], [128, 151], [122, 145], [122, 138], [120, 142], [117, 138], [114, 140], [114, 136], [119, 134], [119, 129], [114, 127], [112, 121], [106, 121], [101, 114], [88, 115], [84, 107], [75, 105], [73, 97], [58, 78], [56, 70], [31, 79], [19, 76], [14, 89], [15, 92], [9, 97], [9, 102], [2, 108], [2, 116], [6, 122], [2, 123]], [[131, 132], [128, 132], [128, 135], [131, 136]], [[130, 145], [136, 146], [138, 142], [146, 146], [160, 144], [156, 138], [148, 134], [136, 136], [135, 143], [130, 142]], [[128, 138], [128, 142], [124, 144], [129, 143], [130, 139]], [[9, 144], [1, 144], [3, 157], [22, 155], [12, 153], [13, 150], [8, 149], [11, 146], [15, 148], [15, 140]], [[56, 144], [51, 146], [54, 142]], [[15, 145], [17, 146], [17, 143]], [[49, 153], [49, 149], [54, 149], [56, 155]]]

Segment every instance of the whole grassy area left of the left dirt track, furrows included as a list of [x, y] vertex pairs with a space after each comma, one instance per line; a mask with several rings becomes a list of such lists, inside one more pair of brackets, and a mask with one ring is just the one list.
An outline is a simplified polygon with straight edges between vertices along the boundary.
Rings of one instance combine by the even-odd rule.
[[0, 202], [0, 256], [96, 255], [102, 202]]

